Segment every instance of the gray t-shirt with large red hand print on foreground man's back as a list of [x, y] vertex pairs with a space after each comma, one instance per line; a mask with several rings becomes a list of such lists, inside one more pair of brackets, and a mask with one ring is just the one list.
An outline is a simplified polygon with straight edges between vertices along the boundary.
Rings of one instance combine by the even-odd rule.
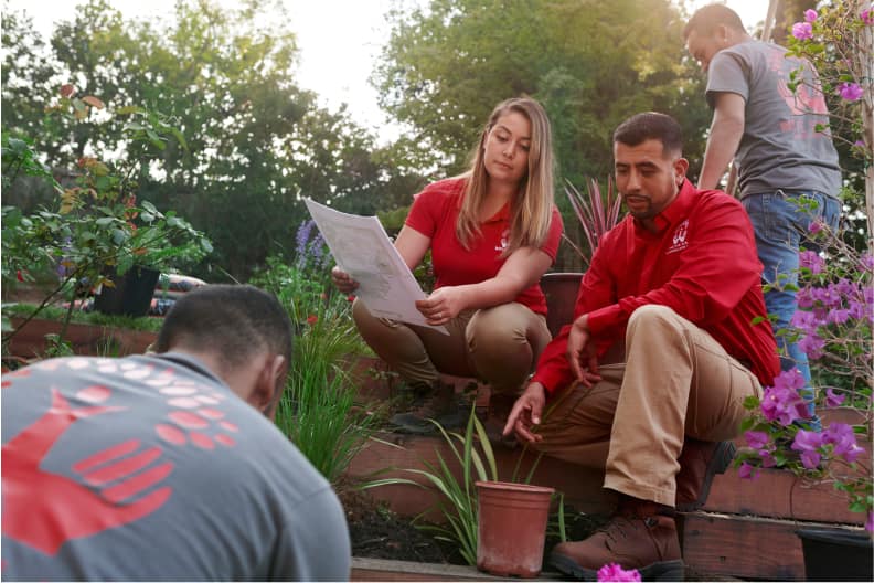
[[330, 485], [182, 354], [2, 378], [3, 580], [345, 581]]

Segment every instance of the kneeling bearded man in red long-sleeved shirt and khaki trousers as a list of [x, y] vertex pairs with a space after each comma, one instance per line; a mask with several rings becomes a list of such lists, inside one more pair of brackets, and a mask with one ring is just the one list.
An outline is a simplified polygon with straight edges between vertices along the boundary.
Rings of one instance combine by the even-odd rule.
[[[618, 512], [604, 531], [557, 545], [559, 571], [606, 563], [681, 580], [675, 508], [703, 505], [745, 416], [779, 372], [753, 227], [743, 206], [686, 179], [679, 124], [646, 113], [614, 134], [629, 215], [603, 240], [573, 325], [541, 356], [504, 433], [604, 467]], [[754, 324], [757, 322], [757, 324]], [[548, 418], [548, 396], [561, 396]], [[593, 579], [594, 580], [594, 579]]]

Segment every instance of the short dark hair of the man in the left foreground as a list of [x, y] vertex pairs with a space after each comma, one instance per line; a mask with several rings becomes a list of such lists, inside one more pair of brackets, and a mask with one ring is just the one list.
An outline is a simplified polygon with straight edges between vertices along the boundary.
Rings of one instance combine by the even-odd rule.
[[212, 351], [230, 367], [262, 351], [291, 359], [291, 322], [279, 301], [249, 285], [207, 285], [183, 295], [164, 318], [156, 352]]

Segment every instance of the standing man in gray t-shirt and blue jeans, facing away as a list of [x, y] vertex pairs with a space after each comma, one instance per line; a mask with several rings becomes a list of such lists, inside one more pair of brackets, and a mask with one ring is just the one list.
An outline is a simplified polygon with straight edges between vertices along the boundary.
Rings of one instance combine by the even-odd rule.
[[[782, 46], [747, 34], [740, 18], [722, 4], [697, 10], [683, 31], [689, 53], [707, 73], [707, 103], [713, 108], [700, 189], [717, 188], [734, 158], [738, 167], [740, 202], [756, 233], [764, 265], [763, 278], [775, 285], [765, 294], [775, 330], [790, 328], [798, 306], [798, 252], [809, 224], [838, 229], [841, 170], [828, 131], [829, 112], [810, 63], [787, 56]], [[801, 70], [797, 91], [790, 73]], [[802, 202], [804, 201], [804, 202]], [[806, 201], [816, 203], [808, 212]], [[778, 335], [782, 370], [798, 368], [804, 378], [804, 399], [813, 413], [813, 390], [807, 354]], [[819, 426], [813, 417], [812, 425]]]

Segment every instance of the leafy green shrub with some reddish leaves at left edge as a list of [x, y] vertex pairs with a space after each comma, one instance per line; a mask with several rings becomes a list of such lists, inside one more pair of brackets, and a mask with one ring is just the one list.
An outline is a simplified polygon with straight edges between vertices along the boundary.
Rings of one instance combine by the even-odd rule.
[[[72, 85], [64, 85], [49, 112], [50, 116], [84, 120], [103, 108], [98, 98], [78, 98]], [[135, 264], [163, 269], [173, 261], [199, 261], [212, 251], [209, 239], [173, 211], [164, 214], [148, 201], [137, 205], [134, 177], [154, 151], [164, 147], [167, 135], [177, 139], [181, 135], [159, 114], [142, 108], [120, 112], [140, 119], [125, 128], [132, 155], [115, 162], [81, 157], [75, 186], [67, 188], [40, 162], [29, 139], [9, 132], [2, 136], [4, 187], [11, 187], [23, 172], [45, 178], [57, 193], [54, 209], [42, 208], [29, 215], [14, 206], [2, 209], [3, 285], [33, 282], [35, 273], [57, 273], [56, 285], [30, 317], [60, 296], [72, 300], [92, 287], [114, 286], [113, 275], [121, 275]], [[72, 310], [71, 301], [71, 315]], [[15, 331], [10, 331], [4, 342]], [[65, 328], [61, 336], [64, 333]]]

